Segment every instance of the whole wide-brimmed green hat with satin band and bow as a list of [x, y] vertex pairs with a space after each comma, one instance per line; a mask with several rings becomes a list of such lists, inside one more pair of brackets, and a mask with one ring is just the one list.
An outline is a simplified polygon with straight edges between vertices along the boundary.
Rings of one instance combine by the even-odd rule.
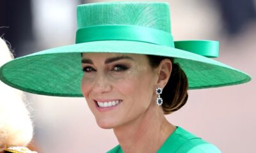
[[82, 52], [174, 57], [189, 89], [250, 81], [249, 75], [210, 57], [218, 41], [173, 41], [168, 3], [109, 2], [77, 6], [76, 44], [19, 57], [0, 68], [0, 80], [22, 91], [81, 97]]

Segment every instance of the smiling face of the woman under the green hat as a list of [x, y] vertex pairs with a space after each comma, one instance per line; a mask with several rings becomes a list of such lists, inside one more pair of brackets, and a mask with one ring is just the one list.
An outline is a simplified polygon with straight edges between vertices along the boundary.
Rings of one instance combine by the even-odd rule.
[[85, 53], [82, 67], [81, 90], [101, 128], [138, 119], [156, 100], [157, 73], [146, 55]]

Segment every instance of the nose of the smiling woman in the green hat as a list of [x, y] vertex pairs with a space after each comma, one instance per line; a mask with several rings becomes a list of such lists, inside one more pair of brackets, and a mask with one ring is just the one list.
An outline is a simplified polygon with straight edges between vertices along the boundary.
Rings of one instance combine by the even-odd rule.
[[108, 78], [105, 75], [97, 75], [94, 80], [92, 91], [95, 94], [101, 94], [111, 91], [111, 84], [108, 82]]

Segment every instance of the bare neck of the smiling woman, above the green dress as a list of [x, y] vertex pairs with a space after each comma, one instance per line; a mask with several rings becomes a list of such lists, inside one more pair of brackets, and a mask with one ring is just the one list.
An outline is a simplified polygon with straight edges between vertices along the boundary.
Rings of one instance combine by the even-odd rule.
[[175, 126], [166, 120], [162, 108], [154, 103], [138, 119], [114, 128], [125, 153], [157, 152], [173, 131]]

